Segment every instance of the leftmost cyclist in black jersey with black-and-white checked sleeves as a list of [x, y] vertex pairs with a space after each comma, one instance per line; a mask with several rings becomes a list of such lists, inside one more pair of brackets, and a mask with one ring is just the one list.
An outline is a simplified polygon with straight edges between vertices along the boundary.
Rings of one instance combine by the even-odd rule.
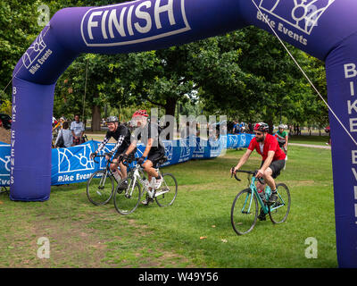
[[[117, 140], [117, 144], [112, 148], [111, 152], [109, 153], [110, 156], [105, 156], [105, 158], [109, 160], [114, 154], [114, 152], [116, 152], [112, 160], [111, 169], [117, 181], [120, 181], [120, 177], [121, 179], [127, 178], [127, 167], [122, 164], [119, 159], [119, 156], [123, 156], [125, 151], [128, 150], [131, 134], [126, 126], [119, 123], [118, 117], [116, 116], [109, 116], [106, 120], [106, 123], [109, 130], [106, 132], [102, 143], [99, 144], [98, 149], [90, 156], [91, 158], [93, 158], [96, 154], [98, 154], [111, 138]], [[133, 149], [132, 151], [134, 151], [135, 153], [136, 150]], [[129, 152], [128, 154], [131, 154], [131, 152]], [[118, 170], [118, 166], [120, 166], [120, 171]]]

